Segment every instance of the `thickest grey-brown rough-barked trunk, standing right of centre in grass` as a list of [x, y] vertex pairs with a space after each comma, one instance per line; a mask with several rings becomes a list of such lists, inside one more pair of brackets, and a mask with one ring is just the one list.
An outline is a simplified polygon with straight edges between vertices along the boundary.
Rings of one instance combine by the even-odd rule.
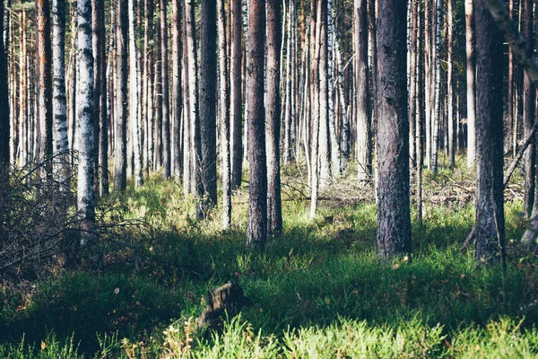
[[406, 4], [380, 0], [377, 23], [377, 252], [411, 253], [409, 118], [406, 87]]

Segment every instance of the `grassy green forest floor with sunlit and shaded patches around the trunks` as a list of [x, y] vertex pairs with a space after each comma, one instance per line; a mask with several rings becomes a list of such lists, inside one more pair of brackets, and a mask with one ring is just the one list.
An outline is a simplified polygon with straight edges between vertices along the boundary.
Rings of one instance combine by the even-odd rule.
[[[223, 231], [219, 209], [198, 222], [182, 186], [152, 176], [101, 201], [100, 215], [119, 224], [79, 265], [57, 260], [4, 281], [0, 357], [536, 357], [538, 261], [518, 244], [521, 178], [506, 191], [503, 271], [461, 249], [474, 220], [462, 166], [425, 171], [422, 223], [412, 194], [412, 258], [390, 261], [376, 254], [373, 188], [351, 171], [311, 220], [306, 172], [285, 168], [284, 230], [264, 251], [245, 247], [247, 183]], [[204, 294], [228, 281], [245, 293], [241, 313], [195, 331]]]

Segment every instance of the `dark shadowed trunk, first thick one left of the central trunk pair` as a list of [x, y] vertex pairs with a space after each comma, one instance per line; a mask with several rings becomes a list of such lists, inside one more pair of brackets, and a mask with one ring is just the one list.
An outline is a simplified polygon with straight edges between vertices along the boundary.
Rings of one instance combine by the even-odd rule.
[[217, 124], [215, 113], [217, 84], [217, 4], [202, 0], [204, 19], [200, 24], [200, 124], [202, 140], [202, 181], [204, 207], [217, 204]]

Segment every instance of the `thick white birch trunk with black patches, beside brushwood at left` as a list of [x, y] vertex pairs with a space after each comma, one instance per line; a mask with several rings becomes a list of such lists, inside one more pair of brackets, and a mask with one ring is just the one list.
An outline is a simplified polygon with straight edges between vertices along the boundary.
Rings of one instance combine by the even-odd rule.
[[[79, 169], [77, 209], [83, 230], [91, 231], [95, 224], [93, 173], [93, 54], [91, 50], [91, 0], [77, 2], [77, 37], [79, 81], [77, 82], [77, 126], [79, 139]], [[81, 239], [85, 244], [86, 236]]]

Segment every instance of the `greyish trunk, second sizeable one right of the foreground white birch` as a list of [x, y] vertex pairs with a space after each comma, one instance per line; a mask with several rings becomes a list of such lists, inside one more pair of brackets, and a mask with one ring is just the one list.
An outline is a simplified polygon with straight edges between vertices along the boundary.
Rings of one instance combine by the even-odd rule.
[[114, 145], [114, 189], [127, 186], [127, 0], [117, 9], [117, 121]]

